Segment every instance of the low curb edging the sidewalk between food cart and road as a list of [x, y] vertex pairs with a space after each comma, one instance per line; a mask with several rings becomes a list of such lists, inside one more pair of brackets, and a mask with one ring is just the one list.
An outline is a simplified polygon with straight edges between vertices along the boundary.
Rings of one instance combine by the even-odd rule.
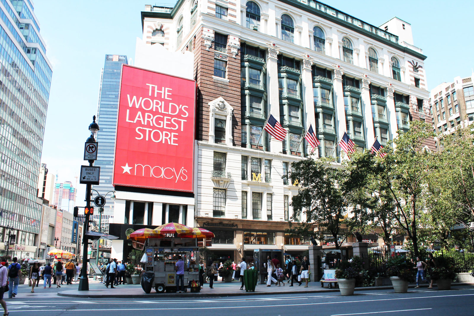
[[[474, 285], [474, 283], [451, 283], [451, 286], [461, 286], [461, 285]], [[415, 285], [409, 285], [408, 288], [415, 288]], [[420, 288], [428, 288], [428, 285], [421, 285]], [[366, 291], [366, 290], [380, 290], [380, 289], [393, 289], [392, 286], [382, 286], [382, 287], [365, 287], [365, 288], [356, 288], [356, 291]], [[150, 294], [69, 294], [64, 292], [58, 292], [58, 296], [62, 297], [88, 297], [88, 298], [155, 298], [155, 297], [230, 297], [230, 296], [252, 296], [252, 295], [288, 295], [288, 294], [310, 294], [310, 293], [331, 293], [339, 292], [339, 289], [322, 289], [322, 290], [308, 290], [308, 291], [299, 291], [299, 292], [286, 292], [286, 291], [276, 291], [276, 292], [235, 292], [235, 293], [150, 293]]]

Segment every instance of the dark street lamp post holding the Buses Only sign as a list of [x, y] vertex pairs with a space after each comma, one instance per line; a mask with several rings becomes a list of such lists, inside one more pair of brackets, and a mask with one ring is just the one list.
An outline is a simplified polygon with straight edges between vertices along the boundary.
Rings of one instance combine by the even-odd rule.
[[[95, 122], [95, 115], [92, 117], [92, 123], [89, 125], [89, 130], [91, 131], [91, 136], [87, 139], [87, 142], [95, 142], [94, 135], [100, 130], [99, 124]], [[94, 160], [89, 160], [89, 167], [94, 165]], [[91, 207], [91, 185], [86, 185], [86, 207]], [[89, 261], [87, 258], [87, 248], [89, 246], [89, 238], [87, 237], [87, 230], [89, 228], [89, 216], [90, 214], [85, 214], [84, 220], [84, 233], [82, 234], [82, 243], [83, 243], [83, 251], [82, 251], [82, 272], [81, 272], [81, 279], [79, 280], [79, 291], [88, 291], [89, 290], [89, 279], [87, 277], [87, 262]]]

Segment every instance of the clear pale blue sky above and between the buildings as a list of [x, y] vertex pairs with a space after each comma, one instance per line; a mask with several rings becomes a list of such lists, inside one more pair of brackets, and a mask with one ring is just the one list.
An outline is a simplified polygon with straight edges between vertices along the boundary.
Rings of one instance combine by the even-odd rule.
[[[474, 67], [471, 1], [322, 1], [367, 23], [379, 26], [397, 16], [411, 24], [414, 45], [428, 56], [428, 88]], [[141, 37], [141, 0], [36, 0], [35, 14], [46, 55], [53, 66], [42, 162], [60, 182], [79, 176], [87, 128], [97, 113], [100, 70], [105, 54], [134, 59], [135, 39]], [[446, 14], [444, 14], [446, 13]], [[456, 13], [456, 14], [454, 14]], [[100, 149], [99, 149], [100, 150]], [[85, 185], [78, 184], [76, 204]]]

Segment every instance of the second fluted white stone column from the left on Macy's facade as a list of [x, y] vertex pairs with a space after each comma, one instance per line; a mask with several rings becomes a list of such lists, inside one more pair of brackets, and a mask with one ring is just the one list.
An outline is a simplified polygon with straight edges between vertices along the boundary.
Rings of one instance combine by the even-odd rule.
[[[301, 81], [303, 83], [303, 107], [304, 107], [304, 130], [308, 130], [310, 125], [313, 127], [314, 132], [316, 133], [316, 122], [315, 122], [315, 115], [314, 115], [314, 102], [313, 102], [313, 77], [311, 74], [311, 65], [313, 65], [313, 61], [311, 57], [303, 59], [303, 67], [301, 72]], [[302, 135], [304, 137], [304, 135]], [[311, 152], [313, 148], [310, 144], [306, 144], [306, 152]], [[318, 150], [314, 150], [314, 154], [317, 157]], [[314, 155], [313, 154], [313, 155]]]

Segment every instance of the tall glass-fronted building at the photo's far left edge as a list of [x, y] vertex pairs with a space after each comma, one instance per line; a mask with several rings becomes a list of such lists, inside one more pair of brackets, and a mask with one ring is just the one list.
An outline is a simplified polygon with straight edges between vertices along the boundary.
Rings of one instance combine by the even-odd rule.
[[36, 185], [52, 71], [32, 3], [0, 0], [0, 19], [0, 254], [10, 232], [9, 255], [30, 258], [40, 230]]

